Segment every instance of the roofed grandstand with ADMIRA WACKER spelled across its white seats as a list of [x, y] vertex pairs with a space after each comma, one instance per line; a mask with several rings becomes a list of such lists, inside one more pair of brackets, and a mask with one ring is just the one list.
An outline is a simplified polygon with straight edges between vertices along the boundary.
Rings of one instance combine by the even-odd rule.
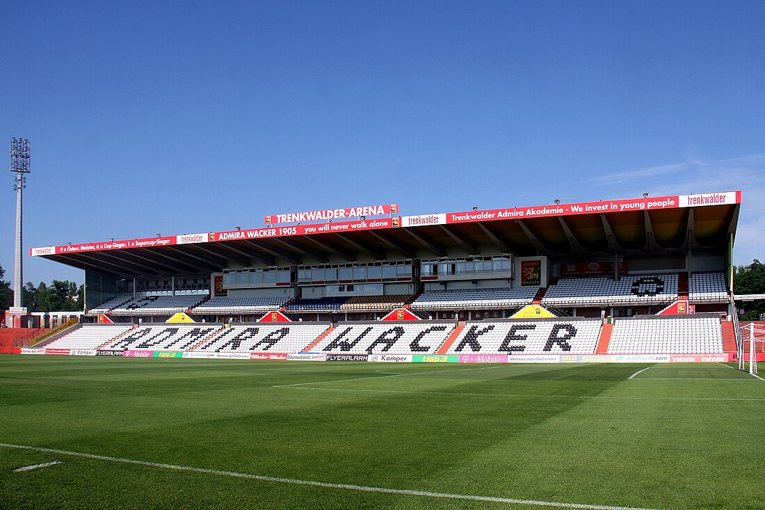
[[[85, 270], [86, 320], [131, 323], [49, 348], [721, 353], [740, 206], [740, 191], [419, 216], [380, 206], [31, 254]], [[164, 324], [176, 314], [188, 323]]]

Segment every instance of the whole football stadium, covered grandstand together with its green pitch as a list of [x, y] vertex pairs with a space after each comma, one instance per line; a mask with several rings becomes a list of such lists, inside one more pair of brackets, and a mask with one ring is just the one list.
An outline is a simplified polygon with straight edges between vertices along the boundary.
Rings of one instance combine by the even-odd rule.
[[6, 315], [31, 328], [0, 355], [0, 505], [765, 508], [740, 208], [363, 204], [31, 248], [85, 310]]

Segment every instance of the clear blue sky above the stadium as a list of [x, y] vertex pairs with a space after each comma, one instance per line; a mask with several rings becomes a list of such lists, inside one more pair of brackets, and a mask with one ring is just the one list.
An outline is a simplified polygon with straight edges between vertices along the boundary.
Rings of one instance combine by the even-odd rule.
[[[742, 189], [736, 263], [765, 258], [765, 2], [8, 2], [3, 18], [0, 134], [32, 149], [25, 253], [353, 205]], [[52, 279], [83, 273], [25, 255], [24, 281]]]

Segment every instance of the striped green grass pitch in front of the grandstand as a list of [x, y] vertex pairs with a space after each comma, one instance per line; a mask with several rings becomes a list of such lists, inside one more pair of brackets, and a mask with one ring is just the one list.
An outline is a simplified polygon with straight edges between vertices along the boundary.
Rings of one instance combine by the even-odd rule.
[[765, 508], [731, 368], [0, 355], [0, 508]]

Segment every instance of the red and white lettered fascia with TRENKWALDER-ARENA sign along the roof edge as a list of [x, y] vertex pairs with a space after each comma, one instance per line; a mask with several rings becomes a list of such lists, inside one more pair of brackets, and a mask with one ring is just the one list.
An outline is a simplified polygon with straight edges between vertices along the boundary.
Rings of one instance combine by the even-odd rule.
[[624, 211], [656, 211], [662, 209], [699, 208], [714, 205], [741, 204], [741, 191], [723, 191], [701, 195], [672, 195], [666, 197], [631, 198], [578, 202], [574, 204], [541, 205], [525, 208], [503, 208], [454, 213], [399, 216], [399, 204], [364, 205], [323, 211], [266, 214], [265, 227], [224, 232], [204, 232], [168, 237], [105, 241], [101, 243], [66, 244], [31, 248], [33, 257], [61, 253], [82, 253], [101, 250], [129, 250], [177, 244], [219, 243], [231, 240], [291, 237], [312, 234], [337, 234], [358, 230], [382, 230], [400, 227], [422, 227], [502, 221], [513, 218], [574, 216], [579, 214], [619, 213]]

